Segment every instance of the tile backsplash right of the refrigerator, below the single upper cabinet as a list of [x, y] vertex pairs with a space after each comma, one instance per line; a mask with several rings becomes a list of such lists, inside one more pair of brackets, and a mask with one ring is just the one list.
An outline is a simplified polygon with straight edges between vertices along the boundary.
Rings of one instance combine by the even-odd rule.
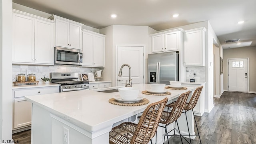
[[[194, 73], [196, 73], [195, 76], [194, 76]], [[186, 81], [189, 82], [190, 79], [195, 79], [196, 82], [205, 82], [205, 67], [204, 66], [187, 67]]]

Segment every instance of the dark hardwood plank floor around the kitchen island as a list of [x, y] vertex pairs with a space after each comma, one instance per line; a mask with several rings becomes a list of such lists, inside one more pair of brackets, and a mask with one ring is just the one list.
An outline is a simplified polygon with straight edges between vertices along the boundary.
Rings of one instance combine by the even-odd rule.
[[[202, 144], [256, 144], [256, 94], [223, 92], [221, 98], [214, 98], [212, 111], [196, 116], [196, 121]], [[13, 140], [30, 144], [31, 130], [13, 134]], [[178, 136], [169, 142], [181, 144]], [[192, 144], [200, 144], [198, 136]]]

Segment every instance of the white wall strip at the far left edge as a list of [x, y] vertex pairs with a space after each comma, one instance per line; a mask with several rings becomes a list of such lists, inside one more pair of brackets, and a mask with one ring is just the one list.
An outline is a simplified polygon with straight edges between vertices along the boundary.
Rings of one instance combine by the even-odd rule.
[[0, 142], [12, 140], [12, 0], [0, 0]]

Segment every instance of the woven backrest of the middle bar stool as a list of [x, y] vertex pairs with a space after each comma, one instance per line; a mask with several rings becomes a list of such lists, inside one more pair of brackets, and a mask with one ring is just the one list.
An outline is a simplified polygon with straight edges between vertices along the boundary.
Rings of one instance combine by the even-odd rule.
[[172, 111], [170, 112], [170, 116], [166, 120], [166, 124], [170, 124], [180, 117], [180, 115], [182, 114], [182, 110], [183, 110], [183, 108], [186, 104], [186, 101], [188, 99], [189, 94], [190, 94], [190, 91], [185, 92], [178, 97], [178, 99], [174, 103]]

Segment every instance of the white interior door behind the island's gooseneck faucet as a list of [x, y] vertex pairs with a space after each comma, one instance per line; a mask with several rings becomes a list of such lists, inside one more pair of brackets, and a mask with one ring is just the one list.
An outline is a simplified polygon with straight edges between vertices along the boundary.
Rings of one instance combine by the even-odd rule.
[[[132, 84], [143, 84], [144, 74], [144, 56], [143, 46], [118, 46], [118, 74], [123, 64], [129, 64], [132, 70]], [[129, 82], [129, 68], [124, 66], [122, 69], [122, 76], [117, 78], [118, 86], [125, 84], [126, 80]]]

